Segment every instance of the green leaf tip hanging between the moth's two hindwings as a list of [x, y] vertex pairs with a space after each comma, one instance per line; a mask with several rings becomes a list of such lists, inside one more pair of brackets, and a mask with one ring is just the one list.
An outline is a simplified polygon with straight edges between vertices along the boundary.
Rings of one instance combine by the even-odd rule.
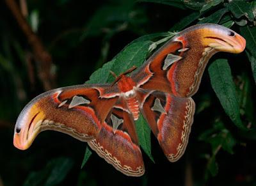
[[150, 160], [155, 162], [151, 155], [150, 128], [142, 115], [140, 115], [140, 118], [136, 121], [136, 132], [141, 148], [145, 151]]

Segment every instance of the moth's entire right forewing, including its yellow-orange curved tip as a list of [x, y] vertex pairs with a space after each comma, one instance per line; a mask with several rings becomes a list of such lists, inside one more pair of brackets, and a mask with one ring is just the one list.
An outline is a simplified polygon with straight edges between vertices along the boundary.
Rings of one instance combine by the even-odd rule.
[[199, 24], [178, 33], [157, 50], [132, 79], [143, 89], [191, 97], [198, 90], [207, 62], [216, 52], [239, 53], [245, 40], [217, 24]]

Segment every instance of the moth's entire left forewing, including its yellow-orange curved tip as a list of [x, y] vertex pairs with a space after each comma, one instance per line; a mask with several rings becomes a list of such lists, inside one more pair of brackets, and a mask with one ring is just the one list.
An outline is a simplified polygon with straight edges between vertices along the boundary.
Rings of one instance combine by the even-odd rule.
[[26, 150], [44, 130], [57, 130], [81, 141], [97, 136], [118, 100], [116, 86], [70, 86], [54, 89], [29, 102], [15, 125], [14, 145]]

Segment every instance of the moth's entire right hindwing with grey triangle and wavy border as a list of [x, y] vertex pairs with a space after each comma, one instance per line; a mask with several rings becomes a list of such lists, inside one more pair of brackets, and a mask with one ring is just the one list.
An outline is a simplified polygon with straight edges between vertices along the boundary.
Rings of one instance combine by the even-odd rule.
[[192, 98], [158, 91], [150, 93], [143, 104], [143, 116], [171, 162], [178, 160], [186, 149], [194, 112]]

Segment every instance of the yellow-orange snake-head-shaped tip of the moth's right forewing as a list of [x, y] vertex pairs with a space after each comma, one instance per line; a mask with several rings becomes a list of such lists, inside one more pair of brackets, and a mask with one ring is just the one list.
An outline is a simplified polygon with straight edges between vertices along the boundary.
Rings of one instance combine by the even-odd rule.
[[246, 40], [243, 36], [216, 24], [205, 24], [199, 29], [202, 42], [207, 47], [221, 52], [240, 53], [243, 52]]

